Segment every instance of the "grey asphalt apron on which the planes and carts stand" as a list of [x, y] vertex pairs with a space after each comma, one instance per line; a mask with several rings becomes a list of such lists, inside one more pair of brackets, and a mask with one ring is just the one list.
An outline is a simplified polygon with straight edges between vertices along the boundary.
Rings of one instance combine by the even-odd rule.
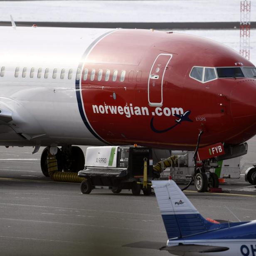
[[[86, 147], [83, 147], [84, 151]], [[123, 247], [136, 241], [160, 241], [167, 236], [154, 195], [133, 196], [53, 182], [40, 170], [32, 148], [0, 147], [0, 254], [167, 256], [165, 251]], [[242, 163], [255, 159], [256, 139]], [[256, 189], [240, 179], [226, 180], [226, 193], [185, 192], [204, 217], [231, 222], [256, 219]]]

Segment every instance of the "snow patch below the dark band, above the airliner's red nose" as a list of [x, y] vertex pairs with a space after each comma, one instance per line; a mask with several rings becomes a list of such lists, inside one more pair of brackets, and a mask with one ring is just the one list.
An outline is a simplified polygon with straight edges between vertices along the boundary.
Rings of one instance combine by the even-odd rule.
[[[173, 30], [173, 32], [193, 34], [226, 44], [239, 52], [240, 30]], [[256, 29], [251, 30], [250, 61], [256, 65]]]

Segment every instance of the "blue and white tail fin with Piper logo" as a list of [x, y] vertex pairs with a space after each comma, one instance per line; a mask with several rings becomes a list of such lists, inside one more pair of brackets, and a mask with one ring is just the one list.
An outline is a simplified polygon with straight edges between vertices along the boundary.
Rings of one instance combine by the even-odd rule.
[[219, 224], [207, 221], [173, 180], [153, 180], [168, 239], [182, 238], [213, 229]]

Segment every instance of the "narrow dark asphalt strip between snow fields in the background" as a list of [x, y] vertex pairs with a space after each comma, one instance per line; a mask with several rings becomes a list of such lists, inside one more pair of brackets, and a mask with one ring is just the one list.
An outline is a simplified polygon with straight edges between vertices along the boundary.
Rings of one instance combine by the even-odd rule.
[[[239, 22], [40, 22], [15, 21], [16, 26], [31, 27], [91, 27], [91, 28], [137, 28], [137, 29], [240, 29]], [[0, 21], [0, 26], [11, 26], [10, 21]], [[251, 22], [251, 28], [256, 28], [256, 22]]]

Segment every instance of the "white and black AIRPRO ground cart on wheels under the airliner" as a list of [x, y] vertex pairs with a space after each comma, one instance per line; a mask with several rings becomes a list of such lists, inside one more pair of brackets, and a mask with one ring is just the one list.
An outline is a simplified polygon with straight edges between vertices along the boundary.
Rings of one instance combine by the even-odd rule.
[[134, 195], [151, 194], [153, 179], [152, 150], [137, 146], [89, 147], [86, 151], [85, 177], [81, 192], [89, 194], [95, 188], [108, 188], [118, 194], [131, 190]]

